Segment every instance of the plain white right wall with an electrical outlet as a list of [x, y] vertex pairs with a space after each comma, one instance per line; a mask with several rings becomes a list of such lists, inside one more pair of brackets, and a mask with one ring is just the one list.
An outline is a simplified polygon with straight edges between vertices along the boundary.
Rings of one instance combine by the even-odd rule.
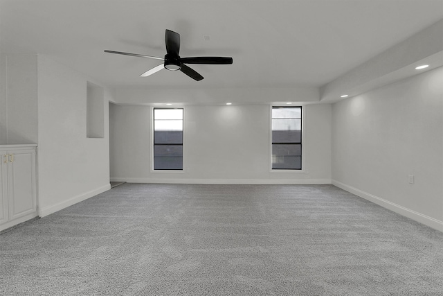
[[442, 82], [440, 67], [335, 103], [333, 184], [443, 231]]

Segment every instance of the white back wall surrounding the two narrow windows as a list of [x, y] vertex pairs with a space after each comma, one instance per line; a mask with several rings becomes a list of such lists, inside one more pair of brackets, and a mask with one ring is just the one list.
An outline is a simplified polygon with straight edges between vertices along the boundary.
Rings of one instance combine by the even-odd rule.
[[[209, 98], [210, 100], [210, 98]], [[188, 105], [183, 172], [152, 172], [152, 107], [111, 104], [111, 180], [192, 183], [329, 183], [331, 105], [305, 106], [305, 171], [270, 171], [269, 105]]]

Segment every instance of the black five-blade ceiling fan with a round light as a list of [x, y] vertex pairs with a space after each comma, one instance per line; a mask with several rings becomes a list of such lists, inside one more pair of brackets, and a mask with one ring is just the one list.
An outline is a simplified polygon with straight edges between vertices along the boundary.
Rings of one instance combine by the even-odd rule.
[[186, 66], [186, 64], [232, 64], [233, 58], [225, 57], [192, 57], [192, 58], [181, 58], [179, 55], [180, 50], [180, 34], [174, 31], [166, 30], [165, 33], [166, 42], [166, 55], [165, 58], [153, 57], [151, 55], [139, 55], [137, 53], [123, 53], [121, 51], [105, 51], [105, 53], [117, 53], [119, 55], [131, 55], [139, 58], [150, 58], [154, 60], [163, 60], [163, 64], [147, 70], [145, 73], [141, 74], [141, 77], [150, 76], [161, 69], [165, 68], [170, 71], [180, 70], [190, 78], [197, 81], [202, 80], [204, 77], [201, 76], [197, 71]]

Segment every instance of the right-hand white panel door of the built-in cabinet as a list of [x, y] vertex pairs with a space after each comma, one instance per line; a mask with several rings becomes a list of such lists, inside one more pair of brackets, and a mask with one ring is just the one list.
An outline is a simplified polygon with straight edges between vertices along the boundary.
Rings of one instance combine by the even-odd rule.
[[10, 151], [8, 163], [9, 220], [36, 211], [34, 150]]

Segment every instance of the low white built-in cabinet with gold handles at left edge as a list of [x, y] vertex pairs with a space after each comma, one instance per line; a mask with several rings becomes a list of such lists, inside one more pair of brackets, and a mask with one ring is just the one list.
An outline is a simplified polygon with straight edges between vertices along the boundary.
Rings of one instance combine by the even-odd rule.
[[35, 145], [0, 146], [0, 231], [37, 216]]

